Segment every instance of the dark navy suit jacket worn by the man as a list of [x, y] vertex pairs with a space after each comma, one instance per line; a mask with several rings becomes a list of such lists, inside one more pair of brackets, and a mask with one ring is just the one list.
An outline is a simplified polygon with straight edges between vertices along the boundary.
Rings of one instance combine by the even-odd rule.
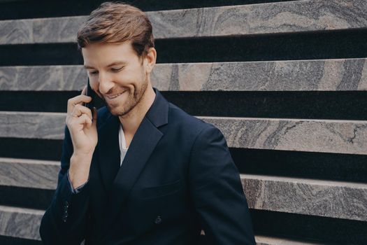
[[216, 127], [156, 97], [120, 167], [120, 120], [98, 111], [99, 141], [80, 193], [67, 177], [65, 129], [55, 195], [41, 221], [44, 244], [255, 244], [236, 166]]

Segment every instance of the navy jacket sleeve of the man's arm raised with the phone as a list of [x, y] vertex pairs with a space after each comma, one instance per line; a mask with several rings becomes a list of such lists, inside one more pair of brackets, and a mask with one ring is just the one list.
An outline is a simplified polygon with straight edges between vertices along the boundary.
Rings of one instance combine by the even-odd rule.
[[80, 244], [85, 235], [89, 190], [87, 184], [78, 194], [71, 189], [67, 172], [72, 154], [73, 144], [66, 127], [57, 189], [41, 221], [44, 244]]

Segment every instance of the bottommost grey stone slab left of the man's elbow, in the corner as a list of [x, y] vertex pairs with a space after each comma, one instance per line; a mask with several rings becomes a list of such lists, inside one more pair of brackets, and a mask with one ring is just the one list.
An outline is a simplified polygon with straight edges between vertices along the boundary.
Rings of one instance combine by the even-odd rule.
[[0, 206], [0, 235], [41, 240], [39, 225], [44, 211]]

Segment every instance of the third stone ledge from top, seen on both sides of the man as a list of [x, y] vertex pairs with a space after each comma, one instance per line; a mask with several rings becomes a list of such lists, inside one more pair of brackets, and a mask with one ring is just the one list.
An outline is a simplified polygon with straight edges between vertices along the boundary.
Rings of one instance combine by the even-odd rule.
[[[64, 139], [66, 113], [0, 111], [1, 137]], [[367, 121], [198, 117], [232, 148], [367, 155]]]

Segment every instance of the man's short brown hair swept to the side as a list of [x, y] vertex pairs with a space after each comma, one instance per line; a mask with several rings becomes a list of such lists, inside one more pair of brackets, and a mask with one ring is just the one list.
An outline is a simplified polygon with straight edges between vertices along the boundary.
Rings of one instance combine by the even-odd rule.
[[90, 13], [77, 36], [78, 50], [90, 43], [123, 43], [131, 45], [139, 57], [154, 47], [152, 24], [142, 10], [122, 2], [105, 2]]

